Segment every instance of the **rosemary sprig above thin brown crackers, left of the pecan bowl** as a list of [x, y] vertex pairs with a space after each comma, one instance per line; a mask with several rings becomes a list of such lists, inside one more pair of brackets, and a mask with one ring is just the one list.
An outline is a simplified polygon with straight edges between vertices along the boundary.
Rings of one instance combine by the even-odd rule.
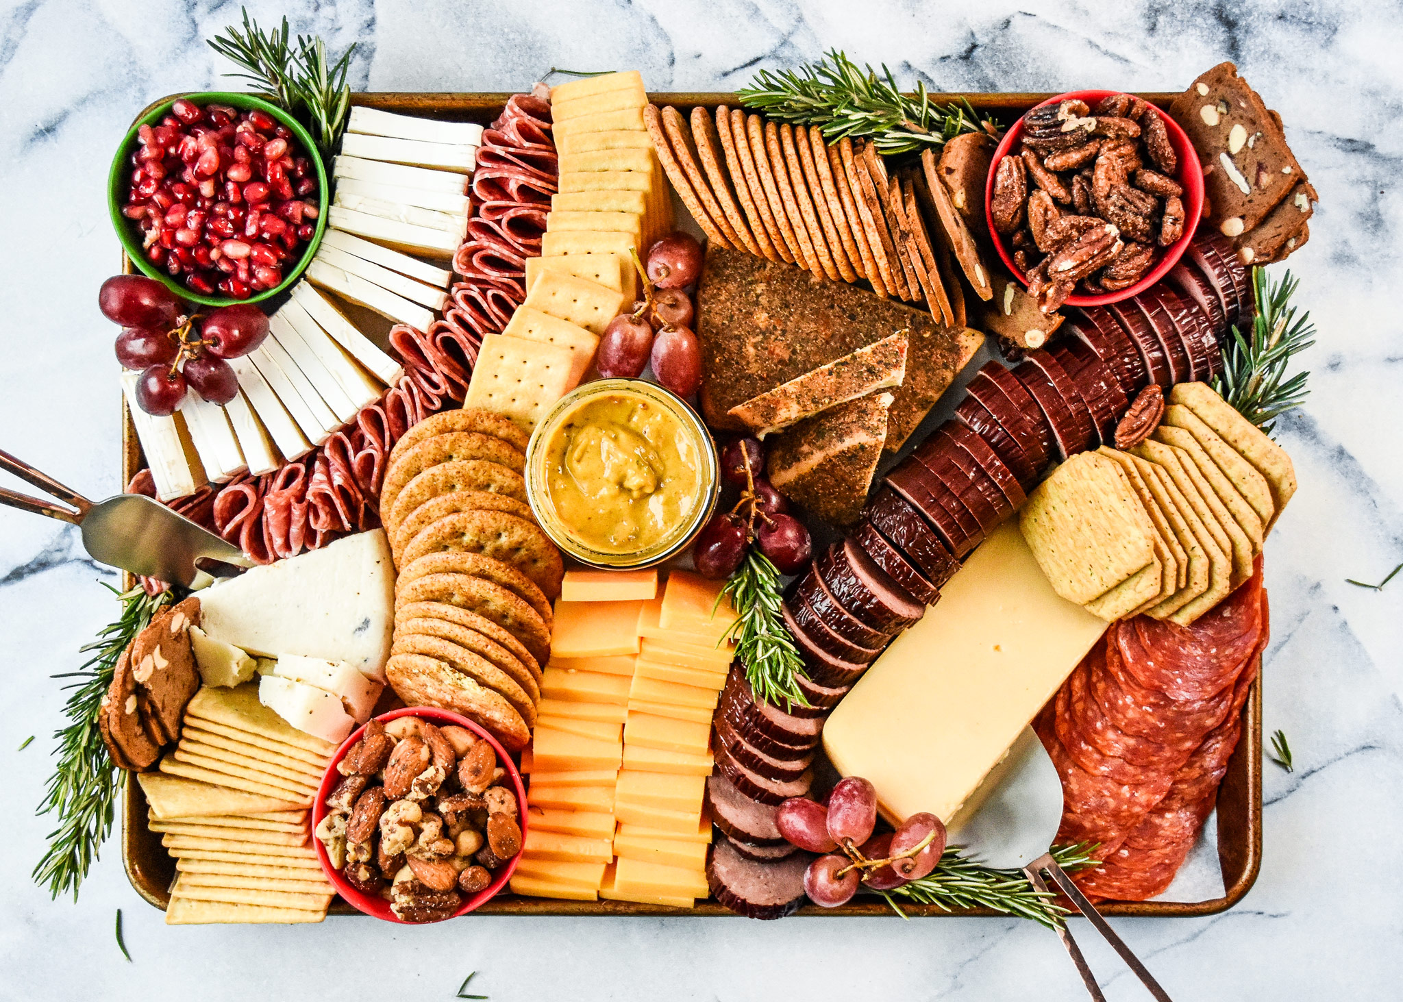
[[838, 49], [797, 70], [760, 70], [739, 97], [745, 107], [781, 122], [817, 125], [829, 140], [871, 138], [882, 154], [940, 149], [961, 132], [995, 128], [981, 122], [968, 101], [932, 104], [920, 80], [915, 97], [908, 97], [885, 65], [878, 74]]

